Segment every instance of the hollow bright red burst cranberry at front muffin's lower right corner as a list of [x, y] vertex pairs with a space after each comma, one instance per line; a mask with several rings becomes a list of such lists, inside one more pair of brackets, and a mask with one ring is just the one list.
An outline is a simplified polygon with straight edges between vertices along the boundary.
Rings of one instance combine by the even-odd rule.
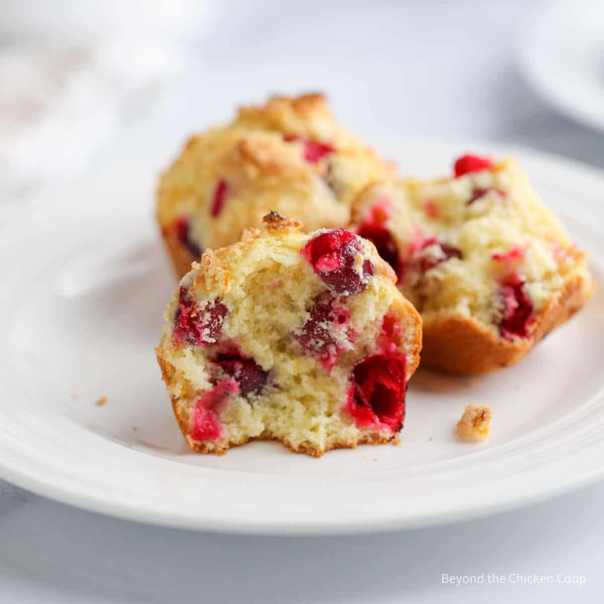
[[395, 432], [405, 420], [405, 357], [373, 355], [353, 370], [347, 411], [359, 427], [388, 427]]

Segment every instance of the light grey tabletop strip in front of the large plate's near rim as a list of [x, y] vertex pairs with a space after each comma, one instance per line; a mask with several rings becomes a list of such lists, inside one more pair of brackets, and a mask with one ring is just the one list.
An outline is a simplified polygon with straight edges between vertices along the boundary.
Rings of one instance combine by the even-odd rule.
[[[0, 495], [0, 602], [601, 602], [602, 501], [599, 484], [449, 527], [254, 538], [150, 528], [9, 492]], [[444, 585], [443, 573], [484, 573], [485, 583]], [[554, 583], [493, 586], [488, 573]], [[587, 582], [559, 584], [559, 573]]]

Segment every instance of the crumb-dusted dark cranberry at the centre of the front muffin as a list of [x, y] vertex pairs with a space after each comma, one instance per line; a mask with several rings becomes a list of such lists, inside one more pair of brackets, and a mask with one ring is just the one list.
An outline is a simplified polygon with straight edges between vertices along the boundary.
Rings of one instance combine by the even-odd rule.
[[334, 330], [349, 323], [350, 313], [344, 307], [336, 307], [335, 298], [329, 292], [315, 298], [309, 313], [310, 319], [302, 326], [301, 333], [292, 335], [307, 353], [321, 358], [329, 370], [342, 352]]

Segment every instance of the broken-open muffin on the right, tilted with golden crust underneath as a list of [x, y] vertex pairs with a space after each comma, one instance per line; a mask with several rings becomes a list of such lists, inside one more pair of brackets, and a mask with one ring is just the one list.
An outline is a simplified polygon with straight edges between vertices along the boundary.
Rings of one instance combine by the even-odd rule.
[[484, 373], [518, 361], [593, 291], [586, 254], [512, 158], [466, 155], [451, 178], [368, 187], [353, 222], [421, 313], [431, 367]]

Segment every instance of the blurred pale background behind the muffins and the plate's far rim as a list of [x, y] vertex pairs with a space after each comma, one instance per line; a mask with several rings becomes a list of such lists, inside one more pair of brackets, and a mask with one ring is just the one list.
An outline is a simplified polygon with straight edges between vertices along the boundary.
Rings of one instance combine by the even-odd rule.
[[4, 0], [0, 192], [159, 169], [237, 105], [316, 90], [377, 147], [490, 140], [604, 167], [603, 34], [601, 0]]

